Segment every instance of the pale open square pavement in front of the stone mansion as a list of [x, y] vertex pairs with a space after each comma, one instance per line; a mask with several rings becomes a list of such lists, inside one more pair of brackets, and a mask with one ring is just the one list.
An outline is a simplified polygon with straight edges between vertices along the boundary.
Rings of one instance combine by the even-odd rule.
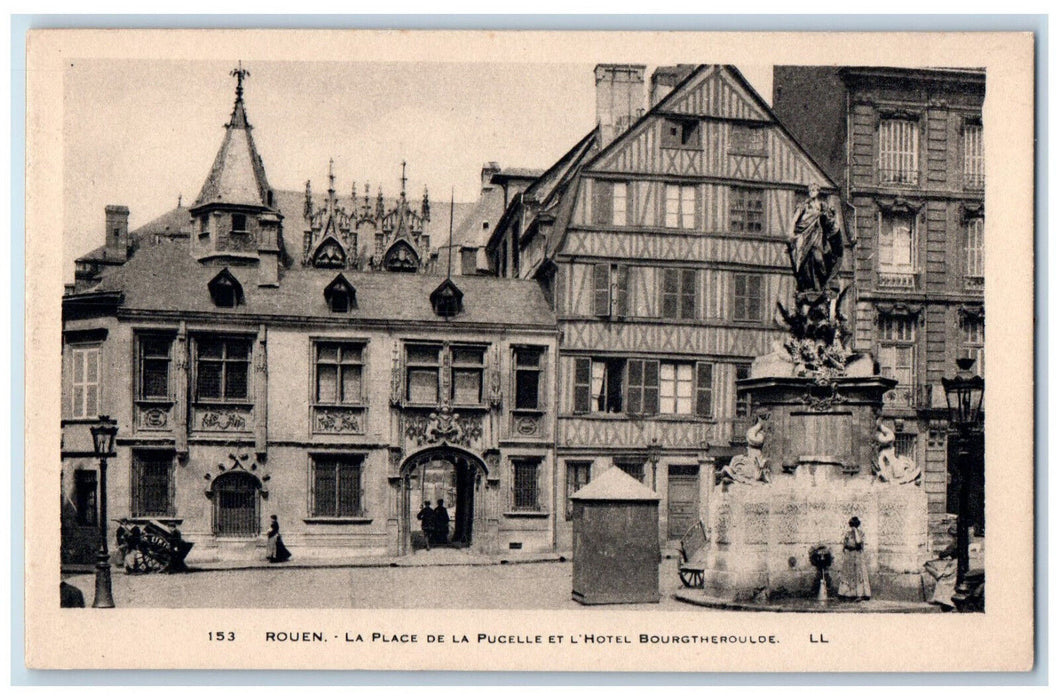
[[[115, 571], [114, 603], [124, 608], [581, 608], [570, 597], [569, 561], [407, 568], [282, 567], [139, 576]], [[91, 602], [91, 574], [66, 580]], [[676, 560], [662, 561], [659, 581], [662, 599], [658, 605], [626, 605], [621, 609], [695, 609], [671, 595], [680, 588]]]

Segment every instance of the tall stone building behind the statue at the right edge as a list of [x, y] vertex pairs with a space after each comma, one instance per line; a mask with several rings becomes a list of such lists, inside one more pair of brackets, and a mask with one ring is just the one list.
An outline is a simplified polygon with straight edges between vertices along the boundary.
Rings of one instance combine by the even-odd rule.
[[[941, 378], [985, 376], [985, 160], [976, 70], [774, 69], [773, 108], [840, 184], [856, 233], [856, 336], [880, 372], [899, 453], [923, 469], [935, 544], [956, 511]], [[974, 521], [985, 524], [981, 451]]]

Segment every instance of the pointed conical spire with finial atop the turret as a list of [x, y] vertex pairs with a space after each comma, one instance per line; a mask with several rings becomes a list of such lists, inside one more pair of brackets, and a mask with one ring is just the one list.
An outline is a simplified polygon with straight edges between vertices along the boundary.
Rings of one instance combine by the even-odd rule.
[[236, 80], [232, 118], [225, 125], [225, 140], [192, 209], [209, 204], [271, 209], [271, 187], [265, 177], [265, 164], [254, 146], [250, 133], [252, 127], [243, 103], [243, 82], [250, 75], [250, 71], [243, 68], [240, 61], [238, 68], [231, 71], [231, 75]]

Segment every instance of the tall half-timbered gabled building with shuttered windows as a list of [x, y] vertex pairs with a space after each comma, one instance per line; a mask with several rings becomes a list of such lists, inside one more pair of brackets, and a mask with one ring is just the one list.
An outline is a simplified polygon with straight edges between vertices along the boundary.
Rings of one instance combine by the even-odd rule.
[[[616, 466], [662, 497], [663, 541], [702, 517], [741, 449], [736, 392], [782, 339], [787, 226], [830, 178], [732, 66], [600, 65], [598, 124], [508, 207], [488, 245], [538, 280], [560, 330], [557, 483]], [[569, 543], [561, 522], [559, 545]]]

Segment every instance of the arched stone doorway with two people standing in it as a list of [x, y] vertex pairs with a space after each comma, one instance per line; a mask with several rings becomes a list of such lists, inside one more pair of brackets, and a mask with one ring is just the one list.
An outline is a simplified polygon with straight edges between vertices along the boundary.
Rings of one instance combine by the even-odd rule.
[[495, 489], [489, 487], [488, 467], [480, 457], [455, 447], [429, 448], [405, 461], [400, 483], [401, 554], [412, 552], [412, 533], [419, 531], [415, 515], [424, 501], [436, 507], [438, 500], [445, 502], [449, 514], [446, 540], [450, 546], [491, 551], [496, 533], [488, 521]]

